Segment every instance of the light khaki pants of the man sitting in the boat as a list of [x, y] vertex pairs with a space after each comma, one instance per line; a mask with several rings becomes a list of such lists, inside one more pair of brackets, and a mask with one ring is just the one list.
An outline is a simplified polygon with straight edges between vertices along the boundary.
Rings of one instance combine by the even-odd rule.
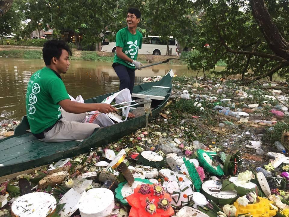
[[45, 138], [39, 139], [43, 142], [65, 142], [70, 140], [81, 140], [89, 137], [100, 127], [98, 124], [82, 123], [87, 113], [73, 114], [61, 109], [62, 118], [54, 127], [44, 132]]

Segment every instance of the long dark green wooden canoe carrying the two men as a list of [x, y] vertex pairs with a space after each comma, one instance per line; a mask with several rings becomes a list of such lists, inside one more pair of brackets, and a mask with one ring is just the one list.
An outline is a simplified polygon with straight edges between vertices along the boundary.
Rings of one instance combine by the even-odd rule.
[[[172, 92], [173, 75], [173, 71], [170, 70], [157, 82], [148, 82], [134, 87], [132, 99], [151, 96], [152, 117], [150, 115], [150, 119], [154, 118], [166, 105]], [[85, 103], [100, 103], [113, 93], [87, 99]], [[91, 148], [106, 145], [132, 131], [136, 131], [143, 127], [146, 122], [143, 106], [140, 105], [135, 109], [131, 109], [131, 112], [135, 113], [135, 118], [108, 127], [98, 128], [83, 141], [42, 142], [27, 131], [30, 127], [27, 117], [24, 116], [19, 126], [16, 127], [14, 135], [0, 140], [0, 165], [2, 164], [0, 166], [0, 177], [88, 152]]]

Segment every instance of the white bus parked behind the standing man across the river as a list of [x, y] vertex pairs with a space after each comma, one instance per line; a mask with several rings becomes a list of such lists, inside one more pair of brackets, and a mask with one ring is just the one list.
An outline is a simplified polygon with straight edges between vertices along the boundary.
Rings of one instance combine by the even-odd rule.
[[[177, 55], [177, 47], [177, 40], [173, 37], [169, 37], [170, 55]], [[105, 32], [101, 43], [101, 51], [114, 53], [115, 50], [115, 36], [111, 32]], [[166, 42], [162, 42], [160, 40], [160, 36], [148, 36], [142, 38], [141, 49], [138, 50], [138, 53], [151, 55], [166, 55], [166, 50]]]

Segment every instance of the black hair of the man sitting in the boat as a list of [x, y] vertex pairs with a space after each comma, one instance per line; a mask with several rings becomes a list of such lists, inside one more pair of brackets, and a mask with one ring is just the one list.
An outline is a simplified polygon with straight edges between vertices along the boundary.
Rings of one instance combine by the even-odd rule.
[[71, 56], [71, 50], [63, 40], [49, 40], [44, 43], [42, 54], [45, 65], [51, 64], [51, 59], [55, 56], [57, 59], [61, 56], [62, 50], [66, 50]]

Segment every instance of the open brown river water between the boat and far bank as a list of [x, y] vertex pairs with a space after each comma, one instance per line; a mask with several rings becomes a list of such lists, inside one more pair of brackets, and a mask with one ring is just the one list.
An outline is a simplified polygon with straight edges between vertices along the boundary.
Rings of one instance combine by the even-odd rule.
[[[70, 61], [65, 75], [61, 75], [67, 92], [74, 98], [83, 99], [118, 90], [119, 79], [111, 63], [92, 61]], [[44, 67], [41, 59], [0, 58], [0, 121], [21, 120], [26, 114], [25, 94], [31, 75]], [[173, 69], [178, 76], [195, 76], [186, 65], [160, 64], [135, 71], [135, 85], [144, 83], [144, 77], [165, 75]]]

